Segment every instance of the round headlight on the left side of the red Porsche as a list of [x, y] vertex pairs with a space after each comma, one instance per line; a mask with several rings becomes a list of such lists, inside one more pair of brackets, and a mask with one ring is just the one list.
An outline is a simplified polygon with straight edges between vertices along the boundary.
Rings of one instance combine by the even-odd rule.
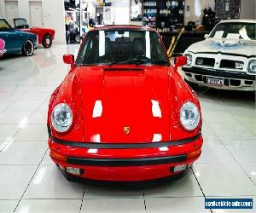
[[58, 132], [67, 131], [73, 122], [73, 113], [67, 104], [61, 103], [55, 106], [51, 114], [51, 124]]

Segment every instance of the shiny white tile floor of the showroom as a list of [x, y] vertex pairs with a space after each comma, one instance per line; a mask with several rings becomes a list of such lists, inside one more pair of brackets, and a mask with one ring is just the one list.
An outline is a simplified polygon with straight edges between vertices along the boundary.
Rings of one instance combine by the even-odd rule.
[[39, 48], [0, 60], [0, 212], [211, 212], [205, 197], [253, 198], [256, 212], [255, 94], [199, 88], [204, 146], [183, 179], [154, 187], [93, 187], [68, 182], [49, 159], [49, 95], [77, 45]]

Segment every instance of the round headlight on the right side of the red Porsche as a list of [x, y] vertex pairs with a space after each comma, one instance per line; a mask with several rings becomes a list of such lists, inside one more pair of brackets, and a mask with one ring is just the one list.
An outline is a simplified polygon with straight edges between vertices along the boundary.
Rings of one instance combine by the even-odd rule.
[[180, 109], [179, 119], [185, 130], [195, 130], [200, 122], [198, 107], [192, 102], [185, 102]]

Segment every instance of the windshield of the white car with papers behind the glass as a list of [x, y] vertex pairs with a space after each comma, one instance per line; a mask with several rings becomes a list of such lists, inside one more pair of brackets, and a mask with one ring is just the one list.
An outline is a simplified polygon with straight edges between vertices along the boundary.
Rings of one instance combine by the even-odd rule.
[[225, 39], [256, 40], [256, 24], [242, 22], [227, 22], [219, 24], [209, 37]]

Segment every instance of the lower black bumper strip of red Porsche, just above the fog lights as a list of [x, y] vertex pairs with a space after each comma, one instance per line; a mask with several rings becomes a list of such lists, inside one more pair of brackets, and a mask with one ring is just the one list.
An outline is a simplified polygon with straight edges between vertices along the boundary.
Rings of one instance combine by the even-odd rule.
[[93, 166], [139, 166], [154, 164], [172, 164], [187, 159], [185, 154], [157, 158], [78, 158], [67, 157], [68, 164]]

